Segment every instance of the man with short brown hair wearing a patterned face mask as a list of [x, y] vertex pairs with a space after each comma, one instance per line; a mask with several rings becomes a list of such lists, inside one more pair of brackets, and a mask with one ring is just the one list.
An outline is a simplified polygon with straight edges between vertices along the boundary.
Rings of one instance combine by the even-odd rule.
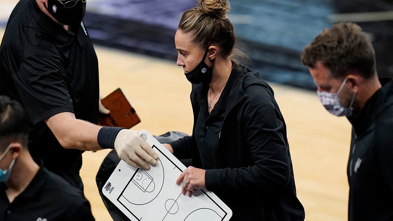
[[323, 106], [353, 126], [349, 221], [393, 220], [393, 81], [378, 79], [370, 39], [356, 24], [334, 24], [305, 48], [302, 62]]

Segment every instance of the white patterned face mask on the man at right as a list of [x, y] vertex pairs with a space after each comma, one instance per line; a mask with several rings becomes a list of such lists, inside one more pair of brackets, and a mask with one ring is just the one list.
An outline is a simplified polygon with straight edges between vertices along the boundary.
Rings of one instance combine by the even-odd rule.
[[347, 78], [341, 84], [340, 89], [336, 93], [325, 92], [325, 91], [317, 91], [320, 101], [323, 107], [326, 108], [331, 114], [336, 116], [352, 116], [353, 113], [353, 101], [355, 100], [356, 93], [353, 94], [352, 101], [349, 104], [349, 107], [343, 107], [340, 103], [340, 99], [338, 98], [338, 94], [341, 89], [344, 87], [345, 82], [347, 82]]

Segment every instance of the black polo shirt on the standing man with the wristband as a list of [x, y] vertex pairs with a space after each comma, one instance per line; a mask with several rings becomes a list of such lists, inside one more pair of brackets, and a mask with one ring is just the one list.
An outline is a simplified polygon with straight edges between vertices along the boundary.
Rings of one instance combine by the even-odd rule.
[[98, 62], [83, 23], [66, 31], [35, 0], [18, 2], [0, 46], [0, 95], [26, 107], [31, 155], [77, 185], [83, 151], [64, 149], [44, 120], [73, 112], [77, 119], [97, 123]]

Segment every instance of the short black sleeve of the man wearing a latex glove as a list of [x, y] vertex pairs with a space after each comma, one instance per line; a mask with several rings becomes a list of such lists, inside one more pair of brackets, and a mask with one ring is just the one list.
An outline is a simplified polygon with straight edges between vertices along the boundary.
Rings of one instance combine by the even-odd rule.
[[29, 57], [13, 74], [13, 80], [33, 124], [61, 112], [73, 112], [66, 74], [59, 59]]

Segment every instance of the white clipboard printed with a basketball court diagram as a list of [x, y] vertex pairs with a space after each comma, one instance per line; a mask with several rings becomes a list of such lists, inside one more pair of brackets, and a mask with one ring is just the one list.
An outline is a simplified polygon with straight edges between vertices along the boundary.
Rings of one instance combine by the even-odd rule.
[[133, 168], [121, 160], [102, 192], [132, 221], [228, 221], [231, 209], [213, 192], [181, 194], [176, 179], [186, 167], [147, 131], [140, 136], [158, 153], [150, 170]]

